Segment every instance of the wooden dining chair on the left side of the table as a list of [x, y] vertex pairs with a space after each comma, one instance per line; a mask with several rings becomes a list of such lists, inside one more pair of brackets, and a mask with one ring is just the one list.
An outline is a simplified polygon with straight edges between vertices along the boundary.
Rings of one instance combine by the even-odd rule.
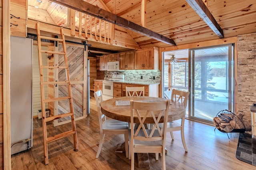
[[124, 134], [125, 140], [125, 152], [126, 158], [128, 158], [128, 123], [118, 121], [115, 119], [106, 119], [106, 116], [102, 114], [100, 110], [100, 103], [103, 101], [102, 99], [102, 91], [98, 90], [94, 93], [94, 97], [96, 99], [96, 105], [98, 110], [98, 117], [100, 123], [100, 144], [98, 148], [98, 152], [96, 154], [96, 158], [100, 155], [100, 150], [102, 148], [103, 140], [105, 134]]

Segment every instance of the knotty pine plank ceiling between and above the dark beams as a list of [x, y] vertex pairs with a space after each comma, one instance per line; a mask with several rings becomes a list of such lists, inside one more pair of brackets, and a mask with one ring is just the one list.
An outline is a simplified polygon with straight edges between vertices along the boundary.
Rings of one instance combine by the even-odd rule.
[[[84, 0], [112, 12], [130, 22], [141, 24], [142, 0]], [[224, 38], [256, 32], [255, 0], [204, 0], [210, 14], [223, 30]], [[39, 8], [34, 8], [38, 6]], [[28, 18], [61, 26], [67, 24], [68, 8], [48, 0], [28, 0]], [[186, 0], [146, 0], [145, 28], [174, 40], [176, 45], [216, 40], [219, 36], [206, 24]], [[76, 16], [79, 16], [78, 12]], [[78, 20], [76, 20], [78, 27]], [[84, 24], [84, 22], [83, 22]], [[125, 29], [141, 47], [167, 47], [170, 44], [154, 40]], [[99, 47], [104, 45], [98, 43]], [[94, 43], [97, 47], [97, 43]], [[105, 47], [106, 48], [106, 47]], [[112, 50], [125, 51], [122, 47]]]

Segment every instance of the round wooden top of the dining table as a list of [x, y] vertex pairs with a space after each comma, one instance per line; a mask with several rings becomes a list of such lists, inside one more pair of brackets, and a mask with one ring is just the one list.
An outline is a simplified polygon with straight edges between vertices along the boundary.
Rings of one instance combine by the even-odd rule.
[[[116, 119], [118, 121], [131, 122], [131, 112], [130, 112], [130, 100], [134, 101], [145, 101], [145, 102], [154, 102], [154, 101], [164, 101], [168, 99], [163, 99], [160, 97], [116, 97], [113, 99], [108, 99], [101, 102], [101, 111], [107, 117]], [[168, 122], [181, 119], [186, 115], [186, 107], [178, 102], [170, 100], [170, 107], [168, 113]], [[135, 118], [134, 123], [140, 123], [138, 119]], [[143, 115], [142, 115], [143, 117]], [[160, 123], [163, 122], [163, 117], [160, 119]], [[148, 115], [144, 123], [154, 123], [150, 114]]]

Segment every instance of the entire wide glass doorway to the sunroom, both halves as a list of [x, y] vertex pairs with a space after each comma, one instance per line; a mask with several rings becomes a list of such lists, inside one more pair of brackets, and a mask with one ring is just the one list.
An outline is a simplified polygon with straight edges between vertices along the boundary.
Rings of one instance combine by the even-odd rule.
[[[176, 62], [170, 59], [172, 55]], [[172, 89], [190, 91], [186, 117], [213, 124], [219, 111], [234, 111], [232, 44], [166, 51], [163, 57], [164, 94]]]

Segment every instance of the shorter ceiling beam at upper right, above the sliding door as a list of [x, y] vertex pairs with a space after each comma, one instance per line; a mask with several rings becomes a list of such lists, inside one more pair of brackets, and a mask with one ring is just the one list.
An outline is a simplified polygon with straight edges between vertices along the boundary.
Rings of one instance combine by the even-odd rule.
[[212, 31], [219, 37], [224, 38], [223, 30], [212, 16], [206, 5], [202, 0], [186, 0], [188, 4], [196, 11], [196, 13], [206, 22]]

